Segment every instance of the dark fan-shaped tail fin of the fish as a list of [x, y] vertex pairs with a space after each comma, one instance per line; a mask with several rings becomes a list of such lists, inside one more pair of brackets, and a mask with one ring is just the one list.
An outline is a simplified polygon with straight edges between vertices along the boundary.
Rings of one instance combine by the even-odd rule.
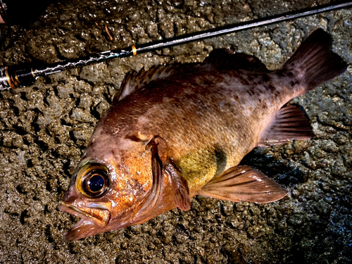
[[331, 51], [331, 43], [332, 38], [327, 32], [315, 30], [284, 65], [284, 70], [306, 83], [304, 92], [334, 79], [347, 69], [342, 58]]

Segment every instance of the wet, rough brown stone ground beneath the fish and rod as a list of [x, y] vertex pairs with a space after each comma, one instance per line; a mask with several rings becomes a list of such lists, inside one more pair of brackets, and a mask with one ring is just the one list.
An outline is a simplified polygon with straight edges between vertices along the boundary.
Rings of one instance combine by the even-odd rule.
[[[326, 3], [61, 0], [27, 29], [5, 28], [0, 65], [52, 63]], [[351, 66], [294, 100], [311, 120], [313, 139], [244, 159], [291, 191], [282, 201], [197, 197], [189, 212], [73, 242], [63, 232], [77, 218], [57, 208], [127, 72], [202, 61], [230, 46], [280, 68], [315, 27], [332, 34], [334, 51], [351, 65], [350, 9], [75, 68], [1, 93], [0, 263], [352, 263]]]

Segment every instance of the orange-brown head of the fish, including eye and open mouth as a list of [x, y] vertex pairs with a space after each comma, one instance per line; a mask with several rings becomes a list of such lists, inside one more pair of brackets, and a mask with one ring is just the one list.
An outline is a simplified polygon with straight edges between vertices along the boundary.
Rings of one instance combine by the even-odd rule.
[[81, 218], [65, 239], [82, 239], [146, 222], [150, 218], [141, 221], [136, 215], [151, 184], [151, 154], [144, 144], [93, 135], [59, 206]]

